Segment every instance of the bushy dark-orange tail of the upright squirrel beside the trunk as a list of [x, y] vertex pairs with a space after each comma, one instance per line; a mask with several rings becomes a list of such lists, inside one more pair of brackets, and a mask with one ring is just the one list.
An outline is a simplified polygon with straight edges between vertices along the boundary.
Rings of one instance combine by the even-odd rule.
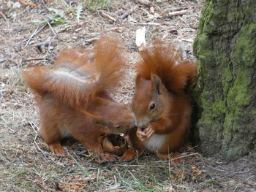
[[181, 53], [173, 45], [155, 41], [140, 53], [137, 74], [151, 80], [157, 74], [170, 91], [187, 90], [197, 76], [197, 64], [191, 60], [181, 61]]

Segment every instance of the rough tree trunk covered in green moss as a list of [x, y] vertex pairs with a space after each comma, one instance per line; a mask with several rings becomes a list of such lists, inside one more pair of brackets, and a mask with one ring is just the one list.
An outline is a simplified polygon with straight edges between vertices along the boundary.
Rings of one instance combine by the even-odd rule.
[[256, 1], [206, 0], [194, 52], [200, 150], [236, 160], [256, 149]]

